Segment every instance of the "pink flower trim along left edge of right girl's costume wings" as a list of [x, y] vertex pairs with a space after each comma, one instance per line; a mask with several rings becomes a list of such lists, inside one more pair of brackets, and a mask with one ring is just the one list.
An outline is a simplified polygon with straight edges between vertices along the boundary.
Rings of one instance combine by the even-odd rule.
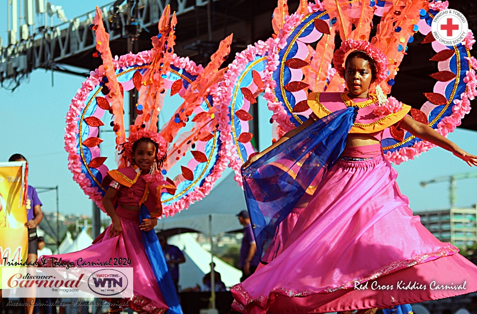
[[[235, 146], [232, 138], [232, 126], [229, 124], [229, 106], [232, 101], [232, 92], [237, 80], [245, 69], [246, 64], [252, 62], [256, 56], [265, 56], [273, 39], [268, 39], [266, 42], [258, 41], [254, 46], [249, 45], [246, 50], [237, 54], [235, 60], [229, 64], [229, 69], [224, 73], [224, 77], [219, 82], [219, 88], [213, 91], [214, 104], [219, 104], [218, 119], [220, 139], [222, 141], [222, 149], [220, 156], [226, 158], [229, 161], [229, 167], [234, 169], [235, 177], [239, 186], [242, 185], [242, 176], [240, 173], [240, 167], [242, 162], [239, 158], [237, 147]], [[232, 113], [233, 115], [234, 113]]]

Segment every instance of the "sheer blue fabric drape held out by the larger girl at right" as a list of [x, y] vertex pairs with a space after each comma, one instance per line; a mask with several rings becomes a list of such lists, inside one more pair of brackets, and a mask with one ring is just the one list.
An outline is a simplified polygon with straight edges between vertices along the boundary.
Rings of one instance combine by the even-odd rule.
[[[292, 211], [321, 169], [336, 163], [346, 145], [356, 109], [318, 120], [242, 169], [245, 200], [261, 261], [270, 261], [280, 223]], [[265, 252], [267, 252], [265, 256]]]

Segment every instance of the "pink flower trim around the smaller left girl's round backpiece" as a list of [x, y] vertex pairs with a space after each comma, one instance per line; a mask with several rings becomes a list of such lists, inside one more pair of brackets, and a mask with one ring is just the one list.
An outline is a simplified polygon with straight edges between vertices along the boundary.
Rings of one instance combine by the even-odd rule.
[[[133, 65], [144, 65], [149, 63], [151, 60], [151, 52], [143, 51], [137, 55], [127, 54], [121, 57], [114, 58], [114, 66], [116, 69], [126, 69], [129, 66]], [[184, 68], [192, 75], [197, 75], [200, 71], [203, 70], [201, 65], [196, 65], [194, 62], [190, 61], [188, 58], [179, 58], [176, 55], [173, 56], [171, 62], [174, 66], [179, 68]], [[84, 193], [93, 200], [99, 208], [104, 211], [102, 205], [103, 196], [98, 191], [97, 188], [91, 188], [91, 182], [86, 179], [86, 176], [81, 173], [82, 160], [78, 154], [78, 141], [77, 135], [79, 132], [78, 122], [81, 116], [81, 111], [86, 106], [86, 100], [90, 92], [101, 82], [102, 75], [99, 70], [96, 69], [90, 72], [90, 76], [81, 84], [81, 88], [78, 90], [75, 97], [72, 99], [70, 104], [70, 109], [66, 116], [66, 128], [65, 128], [65, 150], [68, 152], [68, 169], [73, 173], [73, 180], [77, 182], [80, 188]], [[217, 87], [215, 87], [217, 88]], [[216, 103], [219, 103], [218, 100], [214, 100]], [[138, 132], [136, 133], [138, 134]], [[159, 134], [158, 134], [159, 135]], [[142, 137], [142, 136], [141, 136]], [[160, 141], [160, 140], [159, 140]], [[225, 146], [225, 145], [224, 145]], [[162, 149], [161, 149], [162, 150]], [[224, 148], [222, 148], [224, 150]], [[165, 217], [174, 215], [175, 213], [181, 211], [182, 209], [187, 209], [190, 204], [201, 200], [203, 197], [209, 194], [210, 190], [213, 188], [215, 182], [224, 171], [227, 166], [227, 158], [219, 157], [216, 165], [211, 171], [211, 174], [204, 179], [204, 183], [201, 187], [197, 186], [193, 191], [189, 192], [187, 196], [182, 197], [175, 201], [173, 204], [164, 206], [163, 214]], [[156, 172], [156, 175], [151, 178], [151, 176], [146, 176], [145, 180], [147, 181], [160, 181], [162, 180], [162, 175], [160, 172]]]

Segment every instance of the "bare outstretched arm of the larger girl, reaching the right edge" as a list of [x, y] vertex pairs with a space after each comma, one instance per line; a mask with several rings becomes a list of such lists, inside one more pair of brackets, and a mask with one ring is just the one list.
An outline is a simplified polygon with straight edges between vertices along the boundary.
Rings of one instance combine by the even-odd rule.
[[419, 137], [425, 141], [431, 142], [445, 150], [450, 151], [460, 159], [464, 160], [469, 166], [477, 166], [477, 156], [471, 155], [462, 150], [454, 142], [437, 133], [432, 127], [417, 122], [409, 116], [405, 116], [399, 127], [405, 129], [415, 137]]

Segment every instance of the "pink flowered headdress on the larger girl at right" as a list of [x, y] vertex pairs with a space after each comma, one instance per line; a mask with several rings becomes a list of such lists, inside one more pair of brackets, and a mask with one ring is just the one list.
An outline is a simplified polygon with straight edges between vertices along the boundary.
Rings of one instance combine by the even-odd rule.
[[388, 57], [378, 48], [364, 40], [348, 39], [333, 55], [333, 64], [341, 77], [344, 77], [343, 63], [345, 56], [351, 51], [362, 51], [376, 62], [376, 80], [378, 83], [388, 77]]

